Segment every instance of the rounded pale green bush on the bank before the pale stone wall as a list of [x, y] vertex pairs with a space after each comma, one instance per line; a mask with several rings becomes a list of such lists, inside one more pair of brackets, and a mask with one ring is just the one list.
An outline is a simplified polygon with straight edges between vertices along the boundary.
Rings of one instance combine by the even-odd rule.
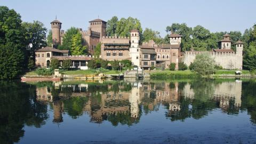
[[208, 54], [198, 54], [194, 60], [194, 69], [199, 75], [211, 75], [214, 74], [216, 69], [214, 68], [215, 62]]

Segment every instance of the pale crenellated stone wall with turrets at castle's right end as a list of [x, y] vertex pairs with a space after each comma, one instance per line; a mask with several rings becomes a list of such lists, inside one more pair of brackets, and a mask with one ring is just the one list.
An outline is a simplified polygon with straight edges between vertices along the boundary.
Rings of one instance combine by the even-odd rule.
[[183, 55], [184, 63], [189, 66], [194, 61], [197, 54], [209, 54], [215, 60], [215, 63], [224, 69], [242, 69], [243, 68], [243, 42], [235, 43], [236, 52], [231, 49], [230, 35], [223, 35], [223, 39], [218, 42], [219, 49], [212, 51], [185, 51]]

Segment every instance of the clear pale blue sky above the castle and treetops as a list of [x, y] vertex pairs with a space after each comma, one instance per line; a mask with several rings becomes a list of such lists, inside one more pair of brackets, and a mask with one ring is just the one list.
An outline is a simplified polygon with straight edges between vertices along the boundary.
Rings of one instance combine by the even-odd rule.
[[0, 0], [0, 5], [14, 9], [22, 21], [43, 22], [47, 29], [56, 15], [63, 30], [71, 26], [87, 30], [89, 21], [98, 17], [105, 21], [113, 16], [133, 17], [140, 20], [143, 30], [157, 30], [162, 37], [166, 26], [175, 22], [201, 25], [211, 32], [237, 30], [242, 34], [256, 24], [255, 0]]

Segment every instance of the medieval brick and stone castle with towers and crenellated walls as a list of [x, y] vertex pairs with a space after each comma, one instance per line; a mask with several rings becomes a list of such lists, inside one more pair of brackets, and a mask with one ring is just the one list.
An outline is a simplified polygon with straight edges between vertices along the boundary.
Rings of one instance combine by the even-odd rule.
[[[106, 36], [107, 22], [101, 19], [89, 21], [89, 28], [83, 31], [83, 41], [89, 47], [89, 53], [94, 54], [94, 49], [101, 43], [101, 55], [104, 60], [131, 60], [134, 66], [143, 69], [150, 67], [168, 68], [170, 63], [175, 63], [175, 69], [179, 68], [178, 63], [184, 62], [187, 66], [194, 61], [197, 54], [208, 53], [215, 60], [216, 64], [224, 69], [242, 69], [243, 65], [243, 43], [238, 41], [236, 52], [231, 49], [230, 35], [224, 35], [219, 41], [219, 49], [213, 51], [185, 51], [181, 53], [181, 38], [179, 34], [169, 35], [170, 44], [157, 45], [153, 40], [139, 45], [140, 36], [137, 29], [130, 32], [130, 37]], [[61, 30], [62, 23], [58, 20], [51, 22], [52, 40], [54, 45], [63, 43], [65, 31]], [[77, 64], [78, 65], [78, 64]]]

